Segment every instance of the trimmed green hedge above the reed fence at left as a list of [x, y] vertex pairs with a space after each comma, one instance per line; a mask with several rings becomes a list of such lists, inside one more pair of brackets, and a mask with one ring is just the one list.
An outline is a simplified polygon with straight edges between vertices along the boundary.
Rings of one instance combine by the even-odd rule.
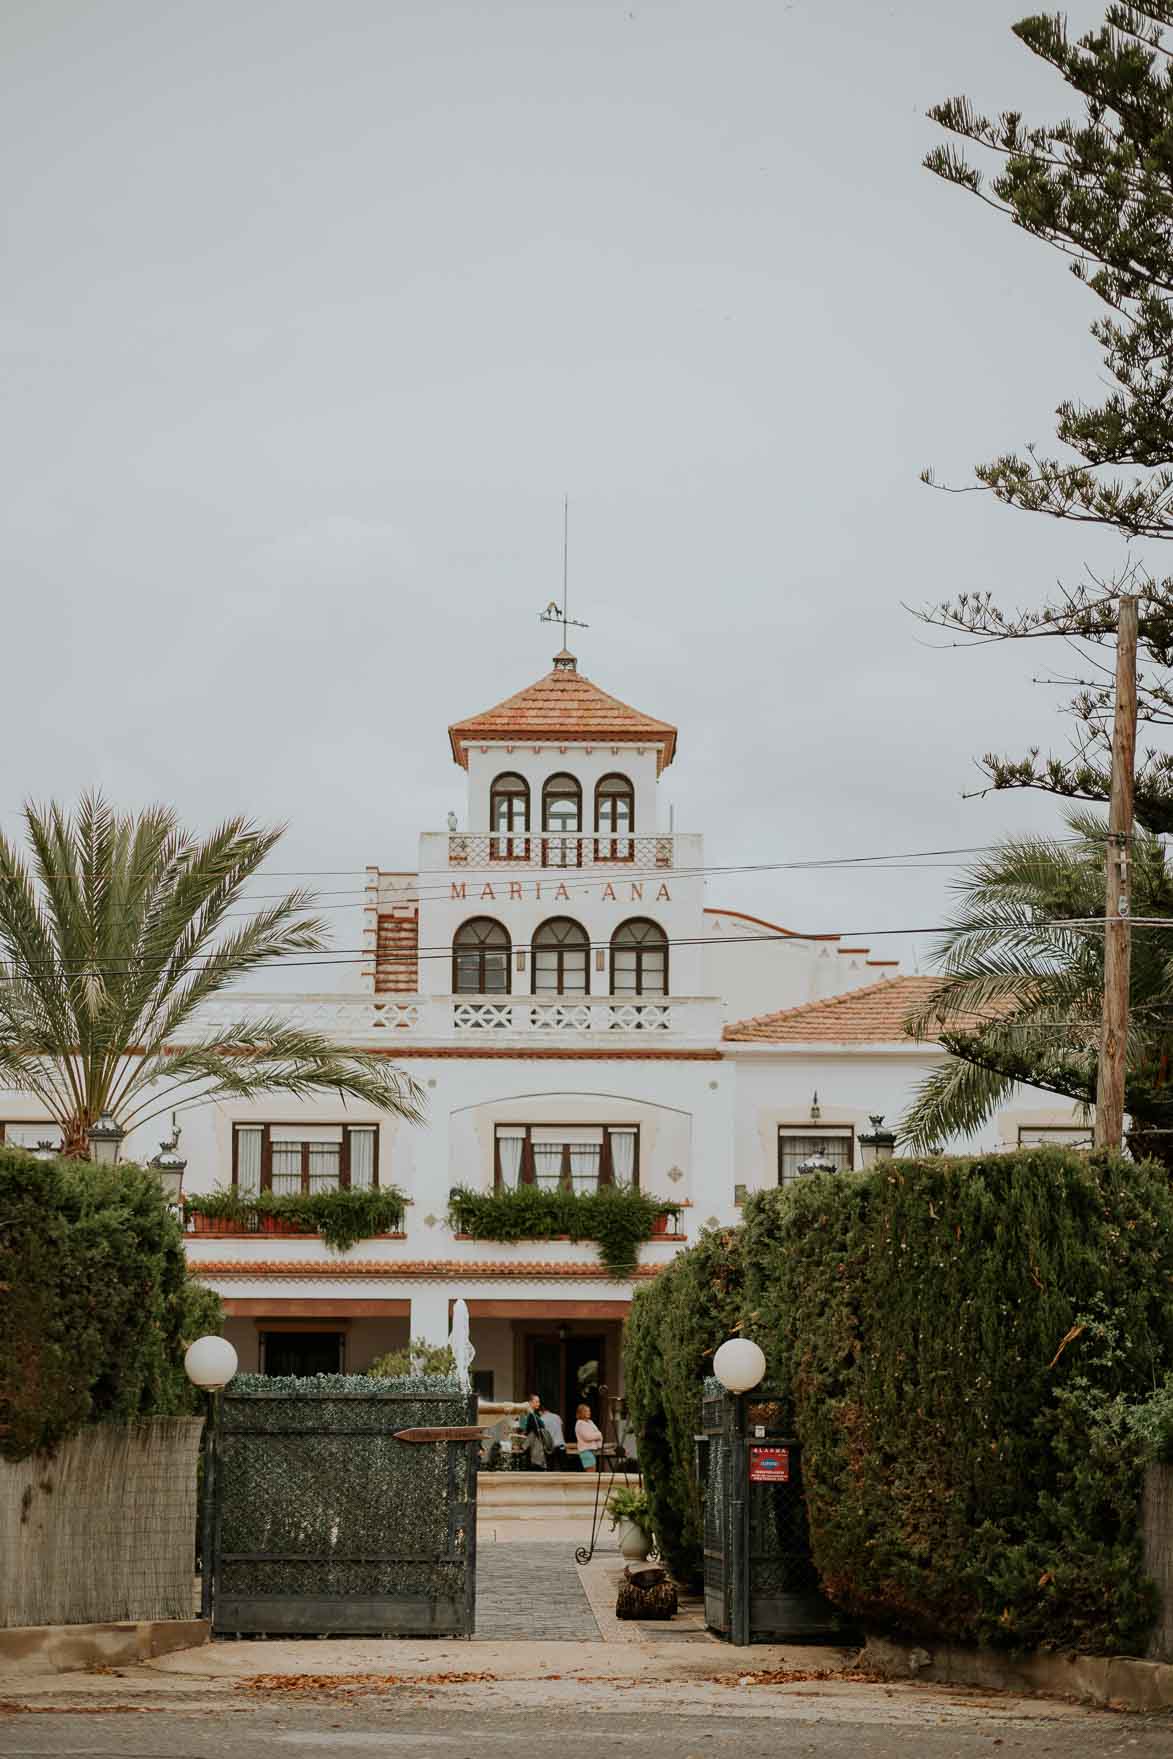
[[86, 1423], [199, 1409], [183, 1351], [218, 1332], [183, 1231], [139, 1166], [0, 1147], [0, 1453], [23, 1460]]

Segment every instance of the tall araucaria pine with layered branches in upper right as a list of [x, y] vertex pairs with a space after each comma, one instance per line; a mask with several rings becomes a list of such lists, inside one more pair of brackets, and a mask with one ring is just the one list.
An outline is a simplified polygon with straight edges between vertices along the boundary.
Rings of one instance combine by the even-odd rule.
[[[1027, 447], [978, 468], [978, 485], [1025, 512], [1110, 526], [1126, 538], [1173, 536], [1173, 0], [1110, 5], [1103, 26], [1071, 39], [1060, 16], [1025, 18], [1018, 40], [1048, 62], [1082, 106], [1060, 123], [1029, 125], [1016, 111], [992, 118], [969, 99], [937, 104], [930, 116], [981, 148], [992, 176], [955, 144], [925, 164], [1067, 259], [1099, 301], [1099, 343], [1108, 394], [1099, 403], [1059, 405], [1059, 456]], [[932, 482], [932, 473], [925, 473]], [[1076, 679], [1069, 756], [990, 753], [994, 788], [1041, 788], [1104, 800], [1110, 781], [1111, 663], [1096, 649], [1115, 644], [1118, 598], [1140, 600], [1140, 718], [1173, 725], [1173, 579], [1140, 566], [1122, 579], [1064, 584], [1038, 605], [1006, 609], [990, 591], [960, 595], [923, 616], [944, 628], [994, 639], [1060, 635], [1083, 644], [1089, 675]], [[1140, 755], [1136, 816], [1173, 830], [1173, 755], [1154, 744]]]

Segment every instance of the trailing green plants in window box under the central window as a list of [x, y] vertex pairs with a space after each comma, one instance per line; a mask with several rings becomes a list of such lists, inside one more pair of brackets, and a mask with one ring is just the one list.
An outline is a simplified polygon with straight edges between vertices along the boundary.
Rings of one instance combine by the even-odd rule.
[[651, 1240], [656, 1217], [679, 1214], [670, 1203], [644, 1196], [631, 1186], [598, 1191], [550, 1191], [517, 1186], [514, 1191], [450, 1193], [448, 1215], [457, 1233], [473, 1240], [594, 1240], [612, 1277], [630, 1277], [640, 1245]]

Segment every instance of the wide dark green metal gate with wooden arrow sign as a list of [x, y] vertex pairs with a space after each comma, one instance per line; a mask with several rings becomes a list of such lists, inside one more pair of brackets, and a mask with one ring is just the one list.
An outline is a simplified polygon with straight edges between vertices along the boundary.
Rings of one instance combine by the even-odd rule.
[[220, 1397], [213, 1636], [471, 1636], [477, 1400], [401, 1386], [237, 1376]]

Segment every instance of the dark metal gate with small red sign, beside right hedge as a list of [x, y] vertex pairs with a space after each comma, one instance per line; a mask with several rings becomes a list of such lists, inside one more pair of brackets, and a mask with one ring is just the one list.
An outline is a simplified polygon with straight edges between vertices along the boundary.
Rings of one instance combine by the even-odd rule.
[[763, 1391], [705, 1386], [696, 1467], [705, 1509], [705, 1625], [730, 1643], [841, 1636], [811, 1557], [802, 1446]]

